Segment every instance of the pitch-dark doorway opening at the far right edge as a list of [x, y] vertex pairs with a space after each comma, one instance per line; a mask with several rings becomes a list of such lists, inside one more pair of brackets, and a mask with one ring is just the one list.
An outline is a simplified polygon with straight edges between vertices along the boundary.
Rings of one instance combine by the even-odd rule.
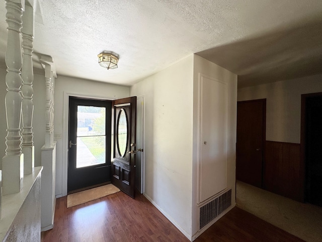
[[322, 206], [322, 95], [306, 98], [306, 201]]

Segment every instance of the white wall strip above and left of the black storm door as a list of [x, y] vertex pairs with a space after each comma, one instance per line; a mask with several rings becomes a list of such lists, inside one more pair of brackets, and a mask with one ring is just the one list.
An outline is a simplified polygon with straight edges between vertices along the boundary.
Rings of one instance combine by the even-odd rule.
[[[58, 76], [56, 78], [54, 93], [54, 133], [62, 135], [62, 139], [57, 140], [56, 144], [57, 196], [65, 196], [67, 192], [67, 184], [63, 183], [63, 175], [67, 174], [67, 156], [65, 149], [63, 149], [63, 140], [68, 139], [68, 127], [64, 130], [64, 122], [68, 123], [68, 101], [64, 101], [67, 98], [67, 93], [93, 98], [118, 99], [129, 96], [129, 87], [64, 76]], [[64, 113], [67, 113], [67, 115], [64, 116]]]

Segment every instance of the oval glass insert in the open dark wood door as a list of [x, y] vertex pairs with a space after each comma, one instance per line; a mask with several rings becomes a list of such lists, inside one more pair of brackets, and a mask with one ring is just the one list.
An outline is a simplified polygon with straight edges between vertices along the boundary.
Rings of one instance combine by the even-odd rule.
[[127, 116], [123, 108], [121, 108], [117, 120], [117, 149], [120, 156], [124, 156], [127, 145]]

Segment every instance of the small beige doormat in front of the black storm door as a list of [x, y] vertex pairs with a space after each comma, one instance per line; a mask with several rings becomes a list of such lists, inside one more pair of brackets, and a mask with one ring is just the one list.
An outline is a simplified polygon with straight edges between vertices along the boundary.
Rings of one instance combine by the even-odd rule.
[[82, 192], [69, 194], [67, 196], [67, 208], [103, 198], [119, 191], [120, 190], [117, 187], [113, 186], [112, 184], [108, 184], [98, 188], [92, 188]]

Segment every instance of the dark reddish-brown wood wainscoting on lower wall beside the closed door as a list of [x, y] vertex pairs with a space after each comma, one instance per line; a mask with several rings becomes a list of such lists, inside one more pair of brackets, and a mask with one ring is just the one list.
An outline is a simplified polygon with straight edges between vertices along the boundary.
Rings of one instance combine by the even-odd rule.
[[264, 189], [299, 202], [304, 201], [301, 146], [266, 141]]

